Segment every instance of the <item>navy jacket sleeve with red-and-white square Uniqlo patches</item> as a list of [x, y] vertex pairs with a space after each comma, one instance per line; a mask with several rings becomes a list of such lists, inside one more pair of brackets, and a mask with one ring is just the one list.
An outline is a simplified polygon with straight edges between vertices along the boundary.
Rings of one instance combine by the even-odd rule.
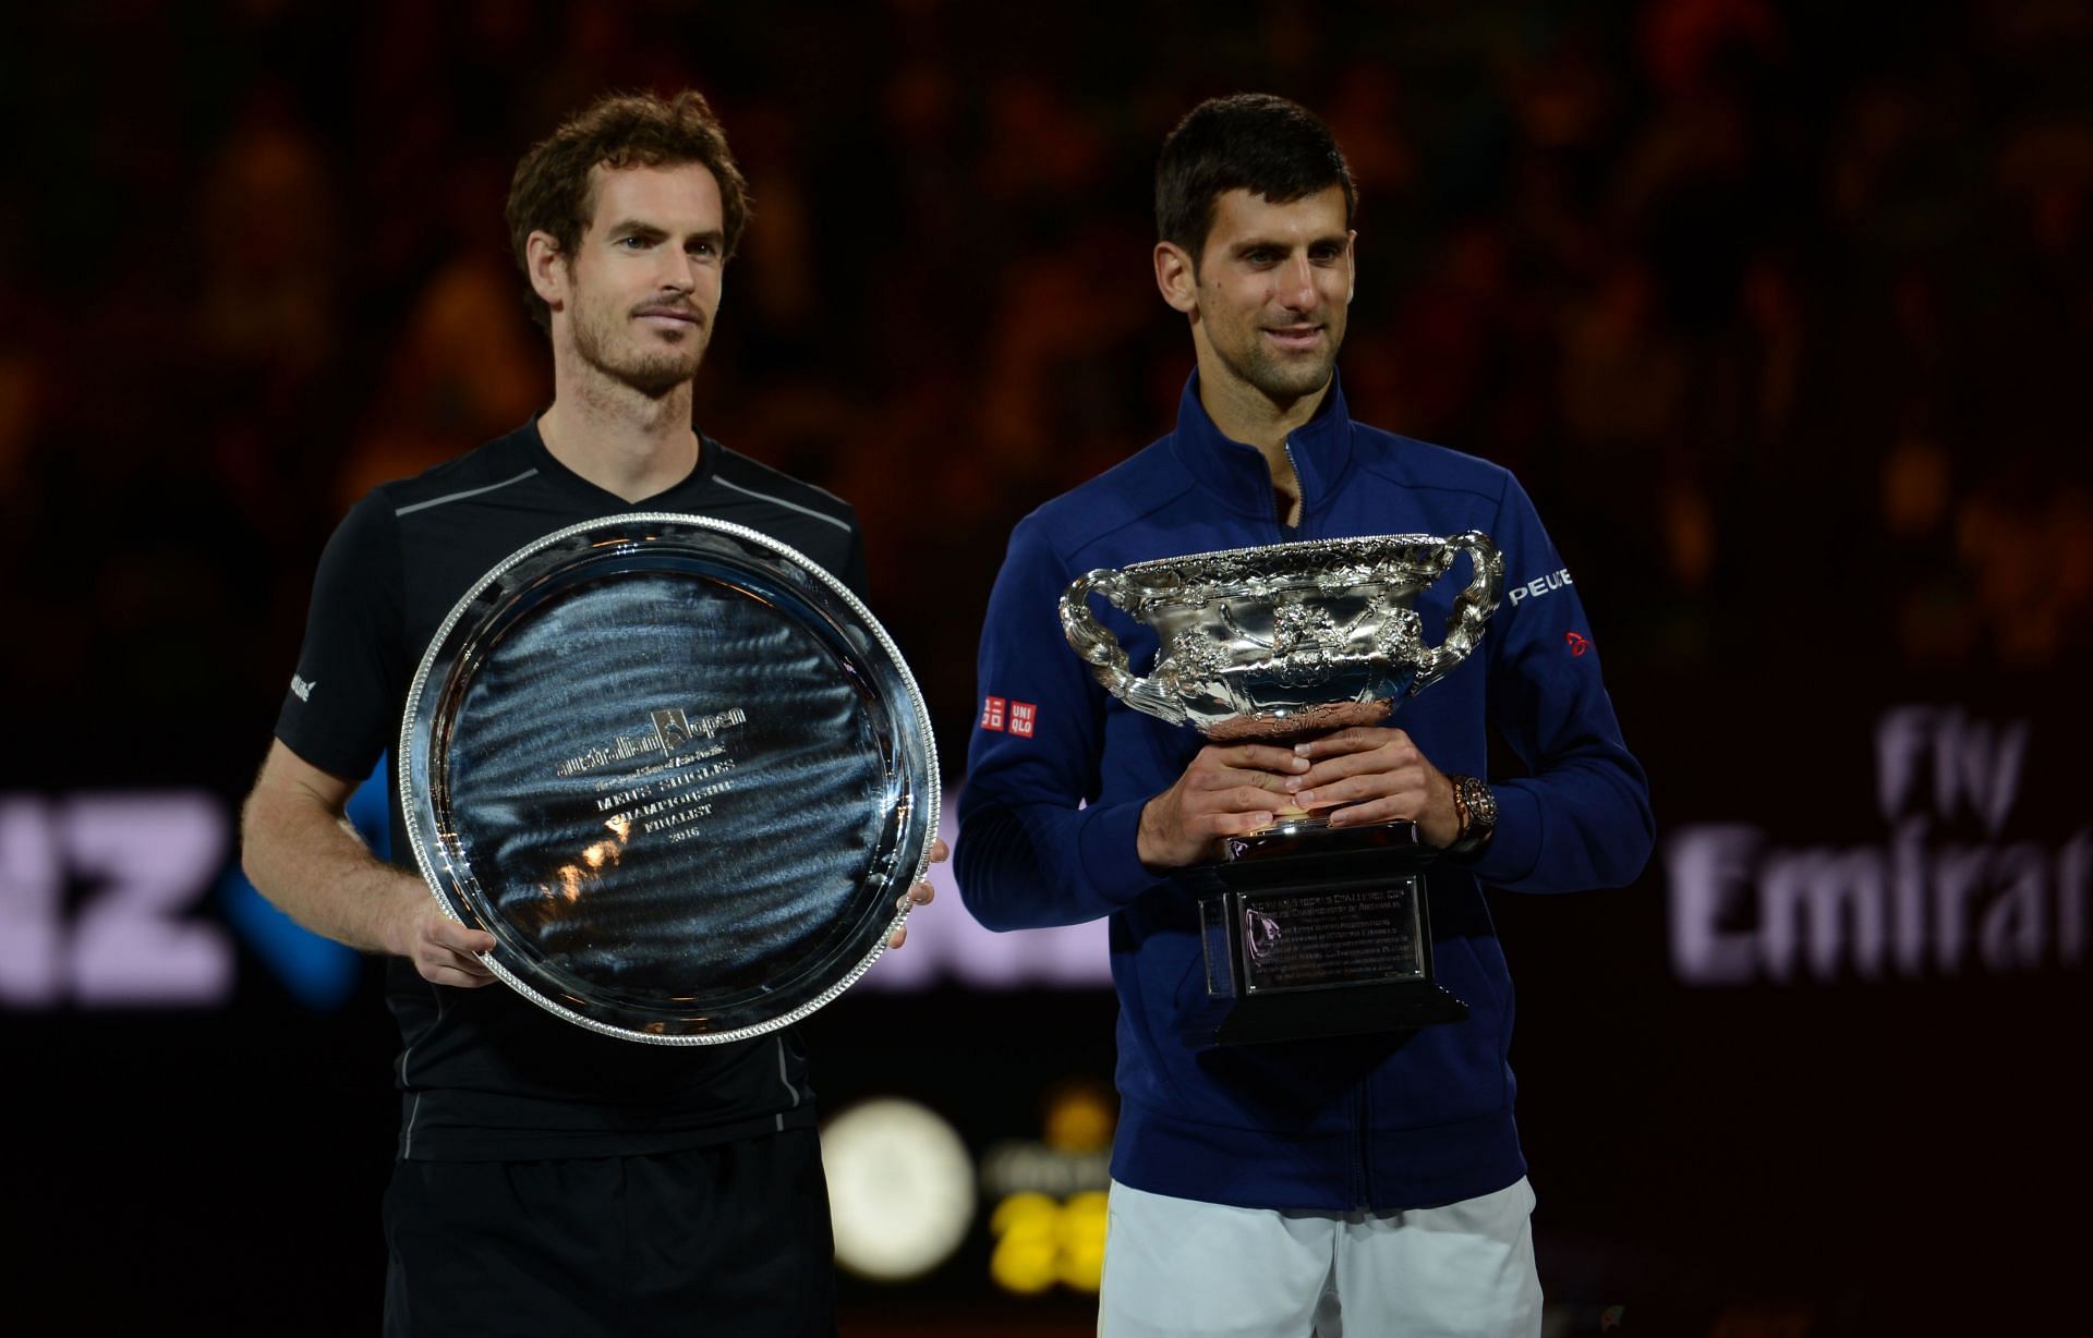
[[996, 930], [1097, 920], [1160, 882], [1134, 853], [1149, 797], [1097, 803], [1107, 698], [1059, 613], [1078, 575], [1026, 518], [988, 596], [952, 874]]

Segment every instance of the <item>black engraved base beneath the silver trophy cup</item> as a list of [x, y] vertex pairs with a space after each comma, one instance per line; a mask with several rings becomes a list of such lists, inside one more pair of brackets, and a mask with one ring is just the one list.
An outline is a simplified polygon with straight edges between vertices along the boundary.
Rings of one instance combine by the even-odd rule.
[[1185, 1043], [1262, 1045], [1465, 1022], [1432, 981], [1417, 824], [1287, 830], [1229, 840], [1183, 874], [1199, 895], [1206, 997]]

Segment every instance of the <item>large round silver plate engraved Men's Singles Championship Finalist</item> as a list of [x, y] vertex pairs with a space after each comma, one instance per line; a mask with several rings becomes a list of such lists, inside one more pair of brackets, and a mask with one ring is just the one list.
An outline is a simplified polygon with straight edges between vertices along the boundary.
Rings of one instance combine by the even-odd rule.
[[707, 1045], [804, 1018], [906, 912], [929, 713], [835, 577], [739, 525], [573, 525], [429, 642], [400, 730], [414, 861], [486, 962], [590, 1031]]

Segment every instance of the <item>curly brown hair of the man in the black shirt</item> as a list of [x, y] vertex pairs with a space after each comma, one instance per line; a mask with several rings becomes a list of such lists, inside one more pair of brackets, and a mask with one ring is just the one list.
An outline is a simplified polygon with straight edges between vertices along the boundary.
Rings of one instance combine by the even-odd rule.
[[553, 314], [530, 286], [530, 234], [548, 232], [559, 253], [571, 257], [597, 207], [590, 174], [597, 167], [676, 167], [699, 163], [720, 184], [726, 211], [726, 257], [749, 222], [749, 184], [726, 148], [726, 132], [705, 96], [684, 90], [674, 98], [609, 94], [599, 98], [517, 163], [509, 182], [509, 245], [523, 270], [523, 299], [532, 320], [550, 328]]

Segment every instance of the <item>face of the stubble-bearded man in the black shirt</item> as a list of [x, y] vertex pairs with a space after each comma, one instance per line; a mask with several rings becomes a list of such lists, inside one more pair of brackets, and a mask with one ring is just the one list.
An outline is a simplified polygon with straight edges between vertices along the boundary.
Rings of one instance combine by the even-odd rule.
[[666, 395], [697, 376], [720, 309], [720, 184], [699, 163], [597, 167], [594, 184], [594, 215], [565, 263], [573, 351], [611, 380]]

